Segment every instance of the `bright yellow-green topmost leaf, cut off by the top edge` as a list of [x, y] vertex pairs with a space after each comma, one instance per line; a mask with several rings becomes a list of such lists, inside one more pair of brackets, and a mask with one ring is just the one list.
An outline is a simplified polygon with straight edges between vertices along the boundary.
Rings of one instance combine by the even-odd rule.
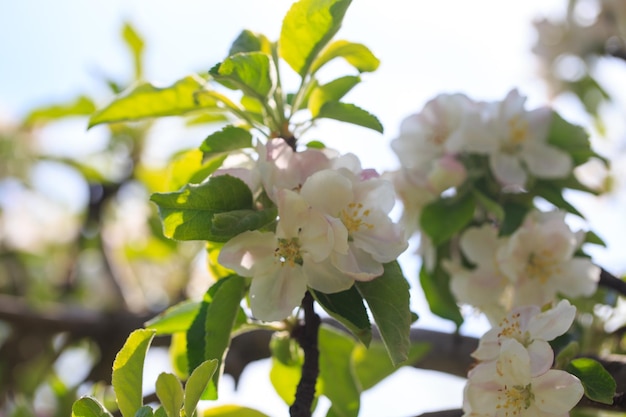
[[341, 27], [350, 0], [301, 0], [287, 12], [278, 42], [280, 56], [300, 76]]

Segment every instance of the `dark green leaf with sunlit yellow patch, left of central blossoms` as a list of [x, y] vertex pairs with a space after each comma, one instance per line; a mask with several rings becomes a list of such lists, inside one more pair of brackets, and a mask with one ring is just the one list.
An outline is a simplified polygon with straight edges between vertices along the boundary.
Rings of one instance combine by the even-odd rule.
[[163, 233], [177, 240], [214, 240], [211, 228], [216, 213], [252, 209], [250, 188], [230, 175], [173, 193], [155, 193], [150, 199], [159, 207]]

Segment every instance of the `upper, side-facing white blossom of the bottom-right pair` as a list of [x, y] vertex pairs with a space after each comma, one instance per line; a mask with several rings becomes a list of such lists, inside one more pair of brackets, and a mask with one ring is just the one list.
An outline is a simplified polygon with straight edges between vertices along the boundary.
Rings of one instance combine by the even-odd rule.
[[550, 369], [554, 360], [548, 341], [564, 334], [575, 316], [576, 307], [567, 300], [544, 312], [534, 305], [517, 307], [480, 338], [472, 356], [481, 361], [495, 360], [502, 343], [515, 339], [528, 351], [531, 375], [540, 375]]

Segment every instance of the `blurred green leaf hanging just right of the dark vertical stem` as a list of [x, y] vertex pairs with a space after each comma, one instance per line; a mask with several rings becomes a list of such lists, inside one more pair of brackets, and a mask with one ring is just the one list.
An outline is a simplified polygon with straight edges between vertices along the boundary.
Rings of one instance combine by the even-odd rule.
[[361, 390], [354, 378], [352, 350], [354, 339], [339, 330], [322, 325], [319, 331], [320, 379], [323, 394], [332, 402], [335, 415], [357, 417]]

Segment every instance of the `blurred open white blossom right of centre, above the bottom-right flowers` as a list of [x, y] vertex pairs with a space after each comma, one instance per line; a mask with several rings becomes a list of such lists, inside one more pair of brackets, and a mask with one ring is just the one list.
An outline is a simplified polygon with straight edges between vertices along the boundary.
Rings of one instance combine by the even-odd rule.
[[593, 294], [600, 268], [574, 256], [583, 237], [582, 231], [570, 230], [561, 211], [531, 212], [497, 252], [499, 268], [513, 287], [511, 306], [545, 305], [557, 294]]

